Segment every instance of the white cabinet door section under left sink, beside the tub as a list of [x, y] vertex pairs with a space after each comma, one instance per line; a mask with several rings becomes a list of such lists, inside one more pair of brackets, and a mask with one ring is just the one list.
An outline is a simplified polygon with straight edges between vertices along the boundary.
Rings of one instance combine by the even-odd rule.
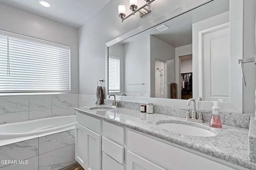
[[76, 123], [76, 161], [85, 170], [101, 170], [101, 136]]

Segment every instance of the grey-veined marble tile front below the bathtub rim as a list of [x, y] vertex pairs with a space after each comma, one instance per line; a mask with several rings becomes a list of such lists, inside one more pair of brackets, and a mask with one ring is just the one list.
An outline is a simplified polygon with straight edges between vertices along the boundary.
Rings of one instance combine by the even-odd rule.
[[[0, 170], [64, 168], [76, 162], [74, 143], [75, 129], [2, 146]], [[2, 164], [1, 160], [24, 160], [24, 164]]]

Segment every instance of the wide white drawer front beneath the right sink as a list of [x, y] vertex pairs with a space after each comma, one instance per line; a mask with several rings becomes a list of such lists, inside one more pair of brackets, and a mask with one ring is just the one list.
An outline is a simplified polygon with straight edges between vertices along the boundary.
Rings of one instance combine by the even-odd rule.
[[[186, 148], [184, 147], [174, 147], [134, 131], [128, 130], [127, 140], [127, 145], [130, 149], [140, 153], [161, 166], [168, 167], [168, 169], [176, 170], [192, 168], [201, 170], [202, 167], [207, 167], [208, 170], [233, 170], [230, 166], [224, 165], [225, 163], [230, 164], [229, 162], [219, 159], [217, 160], [217, 158], [202, 153], [196, 154], [196, 151], [193, 150], [189, 152], [186, 151]], [[198, 154], [202, 156], [199, 156]], [[208, 157], [211, 160], [208, 159]]]

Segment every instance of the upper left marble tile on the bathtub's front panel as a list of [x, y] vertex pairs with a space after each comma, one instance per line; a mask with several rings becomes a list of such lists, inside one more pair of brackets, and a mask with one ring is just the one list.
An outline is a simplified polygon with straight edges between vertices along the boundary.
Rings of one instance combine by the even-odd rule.
[[[38, 156], [38, 138], [0, 147], [0, 160], [25, 160]], [[0, 168], [5, 166], [0, 164]]]

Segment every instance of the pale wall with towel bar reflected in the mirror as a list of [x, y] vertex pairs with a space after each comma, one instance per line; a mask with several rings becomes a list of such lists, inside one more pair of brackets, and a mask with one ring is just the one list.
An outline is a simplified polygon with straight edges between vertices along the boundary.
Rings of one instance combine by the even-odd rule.
[[[150, 93], [149, 36], [124, 45], [124, 92]], [[130, 85], [127, 84], [141, 84]]]

